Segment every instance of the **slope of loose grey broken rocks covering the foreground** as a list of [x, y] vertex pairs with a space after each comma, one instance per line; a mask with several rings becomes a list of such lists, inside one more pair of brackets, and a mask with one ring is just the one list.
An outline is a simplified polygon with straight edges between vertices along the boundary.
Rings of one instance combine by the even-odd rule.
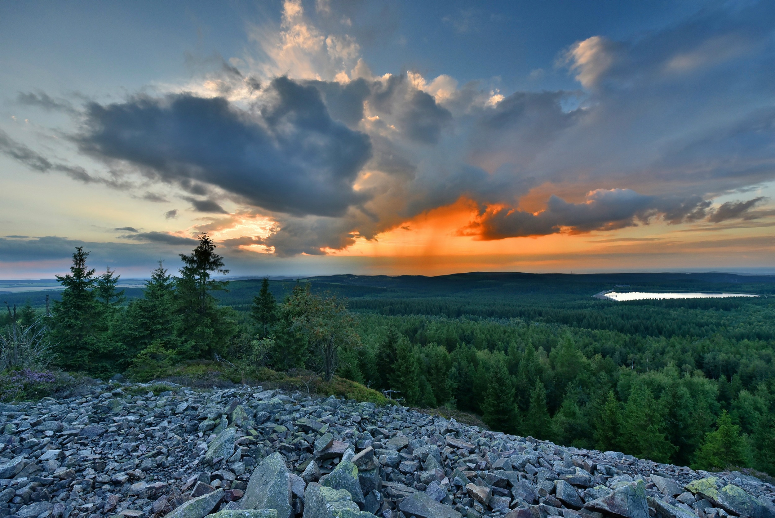
[[737, 471], [560, 447], [401, 406], [148, 387], [0, 407], [0, 516], [775, 518], [773, 486]]

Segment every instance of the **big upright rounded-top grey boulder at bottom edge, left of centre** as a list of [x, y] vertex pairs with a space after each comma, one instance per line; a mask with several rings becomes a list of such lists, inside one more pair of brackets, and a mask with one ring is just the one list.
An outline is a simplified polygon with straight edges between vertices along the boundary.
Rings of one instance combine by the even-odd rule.
[[240, 503], [243, 509], [277, 509], [277, 518], [292, 518], [291, 498], [291, 476], [285, 459], [274, 453], [253, 470]]

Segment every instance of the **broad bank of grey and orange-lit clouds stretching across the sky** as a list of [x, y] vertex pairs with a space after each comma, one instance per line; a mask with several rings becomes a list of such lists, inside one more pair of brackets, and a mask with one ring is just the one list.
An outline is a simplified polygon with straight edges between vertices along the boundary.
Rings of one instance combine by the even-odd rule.
[[[277, 33], [257, 38], [266, 60], [244, 71], [225, 63], [207, 88], [83, 109], [20, 95], [74, 116], [71, 141], [108, 179], [5, 133], [0, 152], [120, 188], [139, 173], [200, 212], [223, 214], [230, 202], [269, 216], [268, 235], [229, 243], [279, 256], [341, 250], [460, 199], [479, 214], [459, 234], [480, 240], [753, 219], [761, 197], [713, 199], [775, 179], [771, 2], [718, 5], [632, 40], [591, 36], [558, 57], [577, 91], [505, 96], [445, 75], [374, 75], [353, 37], [320, 32], [297, 2], [284, 9]], [[525, 209], [537, 188], [562, 194]]]

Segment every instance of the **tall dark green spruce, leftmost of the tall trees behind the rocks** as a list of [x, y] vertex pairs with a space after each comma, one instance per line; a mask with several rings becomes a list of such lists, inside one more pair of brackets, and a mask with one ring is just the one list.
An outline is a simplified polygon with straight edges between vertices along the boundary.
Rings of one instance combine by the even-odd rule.
[[95, 271], [86, 266], [88, 252], [76, 247], [70, 274], [57, 275], [64, 286], [61, 300], [53, 302], [52, 342], [57, 363], [70, 370], [88, 370], [98, 351], [101, 311], [95, 299]]

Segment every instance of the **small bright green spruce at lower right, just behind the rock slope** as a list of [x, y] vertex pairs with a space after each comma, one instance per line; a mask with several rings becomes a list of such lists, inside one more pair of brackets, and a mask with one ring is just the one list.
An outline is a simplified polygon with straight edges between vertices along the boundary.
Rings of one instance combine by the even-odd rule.
[[722, 410], [718, 427], [705, 434], [705, 440], [697, 451], [696, 469], [722, 471], [726, 468], [749, 466], [748, 444], [740, 435], [740, 427], [732, 423], [732, 417]]

